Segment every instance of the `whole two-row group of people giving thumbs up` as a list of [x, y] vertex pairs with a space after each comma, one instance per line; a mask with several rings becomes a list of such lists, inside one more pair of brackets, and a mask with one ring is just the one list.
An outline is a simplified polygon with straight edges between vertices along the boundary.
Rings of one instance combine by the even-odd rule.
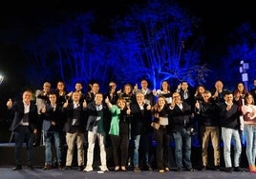
[[[27, 144], [28, 167], [33, 169], [33, 135], [42, 131], [45, 145], [43, 169], [71, 169], [76, 150], [78, 170], [92, 171], [94, 149], [98, 144], [100, 169], [108, 171], [105, 148], [106, 143], [110, 143], [115, 171], [126, 171], [129, 160], [135, 172], [152, 170], [152, 156], [160, 173], [170, 170], [170, 157], [175, 158], [178, 171], [193, 171], [191, 139], [198, 132], [202, 170], [210, 166], [209, 142], [214, 151], [214, 169], [220, 170], [222, 140], [224, 170], [241, 171], [241, 136], [244, 132], [248, 168], [256, 173], [256, 106], [253, 98], [256, 89], [248, 92], [243, 83], [238, 83], [236, 89], [229, 91], [220, 80], [216, 81], [214, 90], [200, 85], [195, 92], [186, 81], [173, 91], [168, 81], [162, 81], [158, 90], [151, 90], [148, 85], [148, 81], [142, 79], [140, 88], [126, 84], [117, 90], [117, 84], [110, 82], [108, 91], [101, 93], [95, 82], [85, 93], [80, 82], [70, 92], [62, 81], [57, 83], [56, 89], [52, 89], [50, 82], [45, 82], [43, 89], [35, 91], [35, 103], [30, 89], [23, 92], [22, 100], [13, 102], [10, 99], [7, 107], [14, 111], [10, 128], [15, 141], [14, 170], [22, 169], [24, 142]], [[172, 156], [171, 140], [175, 144], [175, 156]], [[156, 149], [152, 149], [153, 141]], [[66, 155], [64, 144], [67, 145]]]

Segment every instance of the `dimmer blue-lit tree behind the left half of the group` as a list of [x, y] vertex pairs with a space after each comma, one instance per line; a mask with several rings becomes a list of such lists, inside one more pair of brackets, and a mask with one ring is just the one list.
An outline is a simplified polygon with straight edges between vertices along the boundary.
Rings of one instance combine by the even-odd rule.
[[102, 84], [107, 81], [106, 37], [89, 29], [92, 22], [92, 13], [77, 15], [72, 21], [45, 29], [42, 35], [23, 46], [27, 58], [38, 63], [40, 75], [35, 76], [64, 80], [70, 89], [74, 89], [75, 81], [84, 84], [93, 79]]

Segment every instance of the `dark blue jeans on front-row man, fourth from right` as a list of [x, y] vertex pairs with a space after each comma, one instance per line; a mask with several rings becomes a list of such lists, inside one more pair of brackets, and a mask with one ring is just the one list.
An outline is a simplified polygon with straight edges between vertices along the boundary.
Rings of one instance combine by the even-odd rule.
[[[191, 163], [191, 135], [190, 131], [182, 129], [181, 131], [173, 132], [175, 142], [175, 161], [177, 168], [183, 168], [182, 161], [184, 162], [185, 168], [192, 168]], [[183, 148], [184, 146], [184, 148]], [[182, 150], [184, 149], [184, 151]], [[184, 156], [182, 156], [184, 153]]]

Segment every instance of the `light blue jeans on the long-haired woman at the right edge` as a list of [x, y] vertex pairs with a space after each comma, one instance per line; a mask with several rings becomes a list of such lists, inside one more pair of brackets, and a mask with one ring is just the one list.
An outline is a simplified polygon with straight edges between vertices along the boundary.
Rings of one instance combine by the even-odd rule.
[[246, 156], [248, 165], [255, 165], [256, 157], [256, 125], [245, 125]]

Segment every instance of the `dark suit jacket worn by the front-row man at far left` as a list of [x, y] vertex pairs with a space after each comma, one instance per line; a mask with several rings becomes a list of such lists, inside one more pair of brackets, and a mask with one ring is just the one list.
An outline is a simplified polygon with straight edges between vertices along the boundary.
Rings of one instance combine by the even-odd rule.
[[[24, 116], [24, 103], [23, 101], [14, 102], [11, 111], [14, 111], [13, 121], [11, 123], [10, 130], [13, 131], [17, 129], [20, 121]], [[33, 129], [38, 129], [38, 114], [37, 107], [34, 103], [31, 102], [30, 112], [29, 112], [29, 129], [33, 131]]]

